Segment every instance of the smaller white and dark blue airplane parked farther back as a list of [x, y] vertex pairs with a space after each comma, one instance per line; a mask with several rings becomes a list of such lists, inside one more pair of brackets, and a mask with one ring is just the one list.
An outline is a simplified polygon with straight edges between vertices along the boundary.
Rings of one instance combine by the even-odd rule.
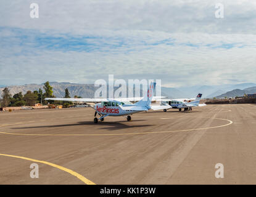
[[[176, 108], [181, 111], [184, 108], [184, 111], [191, 111], [192, 107], [202, 107], [205, 106], [205, 103], [200, 104], [200, 99], [202, 94], [198, 94], [196, 98], [178, 98], [178, 99], [161, 99], [162, 103], [168, 103], [171, 108]], [[167, 109], [163, 109], [163, 111], [167, 111]]]

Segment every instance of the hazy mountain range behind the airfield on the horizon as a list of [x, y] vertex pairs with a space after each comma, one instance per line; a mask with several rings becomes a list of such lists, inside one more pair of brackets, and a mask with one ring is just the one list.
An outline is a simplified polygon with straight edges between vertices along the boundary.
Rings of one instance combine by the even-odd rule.
[[[94, 84], [75, 84], [70, 82], [50, 82], [53, 87], [54, 95], [56, 97], [64, 97], [65, 89], [68, 88], [70, 97], [74, 95], [81, 96], [83, 98], [94, 98], [94, 92], [98, 87], [94, 87]], [[28, 90], [34, 91], [39, 88], [43, 89], [44, 84], [25, 84], [22, 86], [9, 86], [10, 94], [22, 92], [25, 94]], [[191, 98], [196, 97], [197, 94], [203, 94], [203, 98], [213, 97], [236, 97], [246, 94], [256, 93], [256, 84], [243, 83], [243, 84], [222, 84], [218, 86], [184, 86], [184, 87], [162, 87], [162, 96], [169, 98]], [[5, 86], [0, 87], [0, 92]], [[115, 89], [117, 89], [116, 87]], [[133, 90], [134, 92], [134, 90]], [[225, 93], [226, 92], [226, 93]], [[250, 93], [252, 92], [252, 93]], [[140, 92], [142, 95], [142, 90]], [[128, 95], [128, 92], [126, 92]], [[1, 94], [0, 94], [1, 96]]]

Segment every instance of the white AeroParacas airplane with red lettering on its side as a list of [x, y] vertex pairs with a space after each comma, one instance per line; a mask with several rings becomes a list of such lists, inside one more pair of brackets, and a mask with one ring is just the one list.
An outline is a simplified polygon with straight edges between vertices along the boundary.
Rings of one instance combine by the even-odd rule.
[[[154, 94], [155, 82], [151, 82], [149, 89], [147, 89], [147, 95], [139, 100], [139, 102], [131, 103], [131, 101], [137, 98], [45, 98], [45, 100], [60, 100], [68, 102], [96, 102], [94, 106], [89, 105], [95, 110], [94, 123], [98, 123], [98, 120], [104, 121], [107, 116], [124, 116], [127, 121], [131, 120], [131, 116], [134, 113], [141, 111], [152, 110], [164, 110], [171, 108], [170, 105], [151, 105], [151, 100]], [[157, 99], [156, 97], [155, 99]], [[100, 102], [100, 103], [99, 103]], [[96, 116], [99, 115], [99, 118]]]

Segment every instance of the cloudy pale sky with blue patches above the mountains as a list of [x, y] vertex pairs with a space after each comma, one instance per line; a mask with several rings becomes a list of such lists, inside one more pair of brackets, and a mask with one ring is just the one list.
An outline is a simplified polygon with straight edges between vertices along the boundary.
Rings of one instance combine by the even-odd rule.
[[108, 74], [169, 87], [256, 82], [256, 1], [0, 0], [0, 18], [0, 85]]

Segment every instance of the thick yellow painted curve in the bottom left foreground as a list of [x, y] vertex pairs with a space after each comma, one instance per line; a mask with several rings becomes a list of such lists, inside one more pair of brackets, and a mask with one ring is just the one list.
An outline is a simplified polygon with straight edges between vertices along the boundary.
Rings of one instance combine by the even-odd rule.
[[69, 174], [75, 176], [77, 179], [80, 179], [82, 182], [84, 182], [87, 185], [96, 185], [96, 183], [91, 182], [91, 180], [89, 180], [89, 179], [86, 179], [85, 177], [83, 177], [83, 175], [78, 174], [77, 172], [74, 172], [70, 169], [67, 169], [66, 167], [59, 166], [57, 164], [49, 163], [47, 161], [41, 161], [41, 160], [38, 160], [38, 159], [25, 158], [23, 156], [16, 156], [16, 155], [6, 155], [6, 154], [1, 154], [0, 153], [0, 156], [9, 156], [9, 157], [12, 157], [12, 158], [19, 158], [19, 159], [25, 159], [25, 160], [28, 160], [28, 161], [34, 161], [36, 163], [43, 163], [43, 164], [46, 164], [48, 166], [56, 167], [56, 168], [60, 169], [61, 171], [68, 172]]

